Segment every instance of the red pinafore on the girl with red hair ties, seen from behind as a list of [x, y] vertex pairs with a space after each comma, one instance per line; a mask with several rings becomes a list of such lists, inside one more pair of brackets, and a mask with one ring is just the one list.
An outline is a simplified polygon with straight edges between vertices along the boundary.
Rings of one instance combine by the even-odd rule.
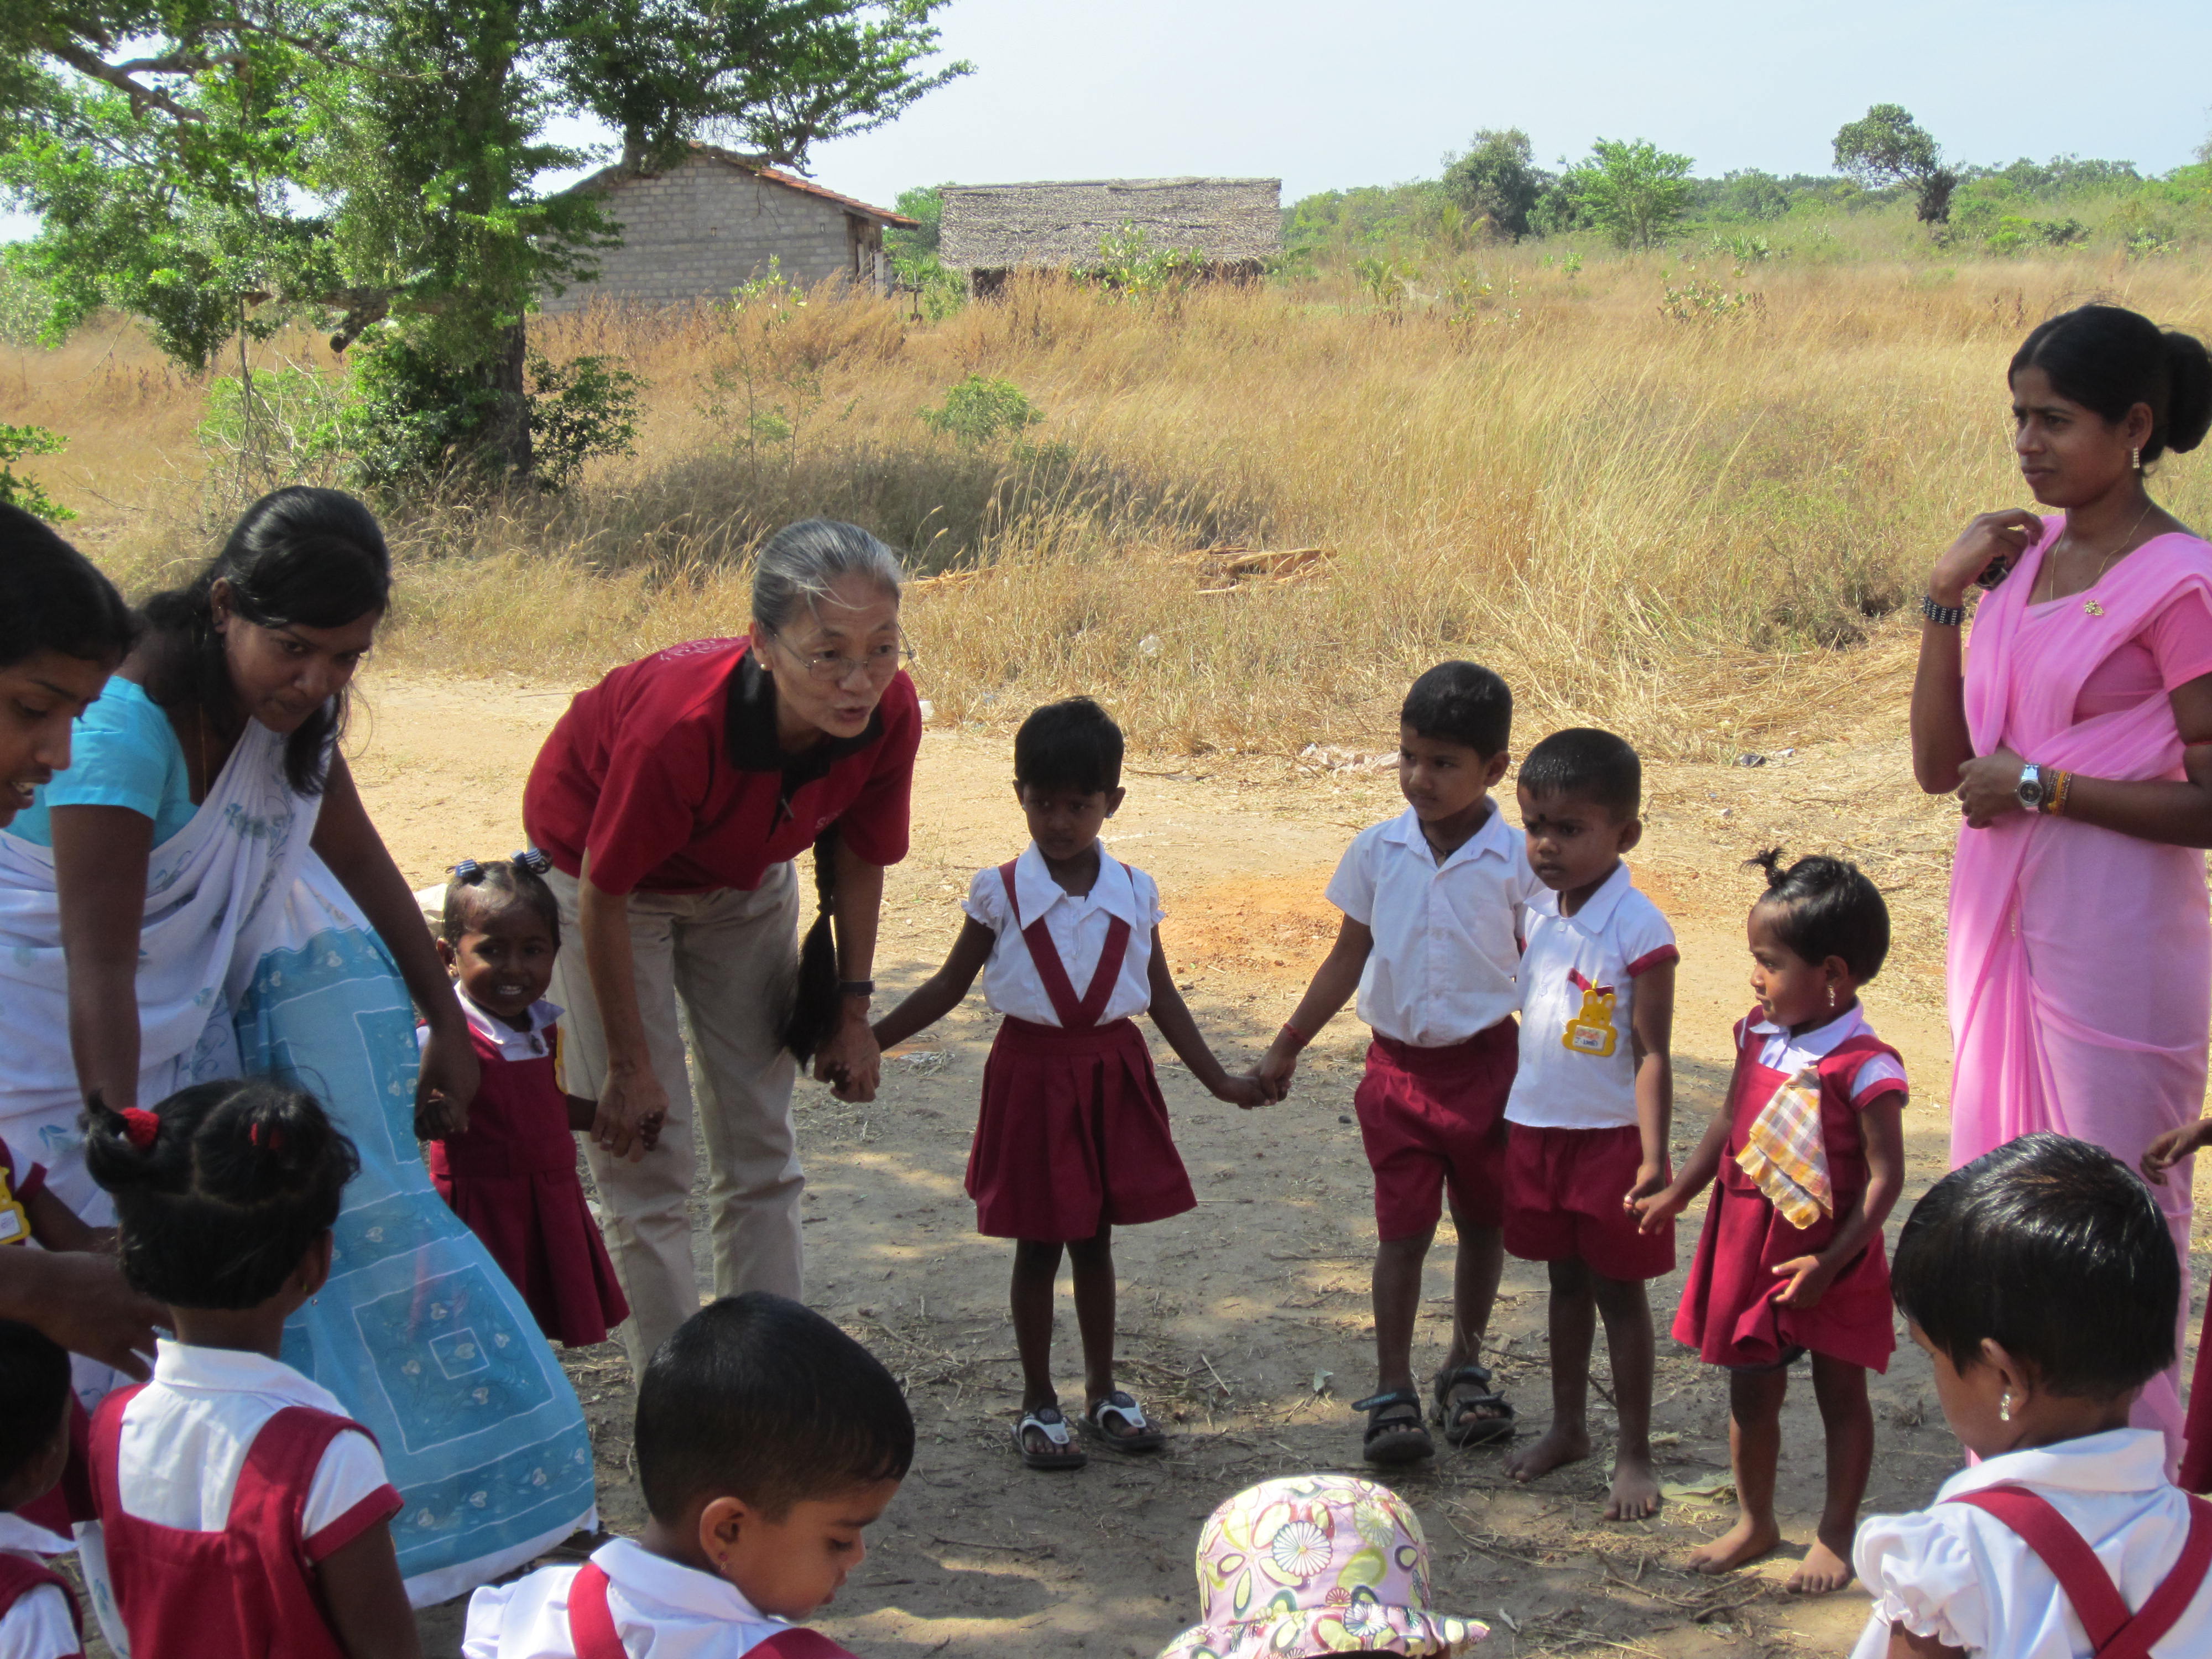
[[[131, 1632], [133, 1659], [345, 1659], [314, 1586], [301, 1515], [323, 1451], [349, 1418], [288, 1405], [254, 1436], [219, 1533], [144, 1522], [124, 1509], [117, 1467], [124, 1409], [139, 1389], [117, 1389], [93, 1413], [93, 1480], [115, 1610]], [[369, 1436], [374, 1442], [376, 1436]], [[363, 1500], [361, 1520], [338, 1544], [400, 1511]], [[327, 1531], [338, 1531], [334, 1522]]]

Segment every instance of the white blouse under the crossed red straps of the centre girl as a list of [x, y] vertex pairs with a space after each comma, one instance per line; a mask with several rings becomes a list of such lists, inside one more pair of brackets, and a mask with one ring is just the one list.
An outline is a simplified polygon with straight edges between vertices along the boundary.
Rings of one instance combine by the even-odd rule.
[[1097, 973], [1099, 956], [1106, 951], [1106, 933], [1115, 918], [1128, 922], [1128, 951], [1121, 956], [1121, 973], [1115, 975], [1113, 991], [1099, 1024], [1128, 1020], [1152, 1006], [1152, 929], [1166, 911], [1159, 907], [1159, 887], [1141, 869], [1133, 869], [1099, 847], [1099, 874], [1091, 891], [1077, 898], [1066, 891], [1053, 872], [1044, 867], [1044, 854], [1031, 841], [1029, 849], [1013, 860], [1013, 896], [1020, 914], [1006, 905], [1006, 883], [998, 865], [978, 869], [969, 883], [967, 902], [960, 907], [978, 922], [998, 933], [991, 960], [982, 969], [984, 1000], [1000, 1013], [1029, 1020], [1040, 1026], [1057, 1026], [1060, 1013], [1037, 978], [1037, 967], [1029, 958], [1022, 929], [1044, 918], [1060, 951], [1060, 964], [1068, 971], [1068, 984], [1079, 1002]]

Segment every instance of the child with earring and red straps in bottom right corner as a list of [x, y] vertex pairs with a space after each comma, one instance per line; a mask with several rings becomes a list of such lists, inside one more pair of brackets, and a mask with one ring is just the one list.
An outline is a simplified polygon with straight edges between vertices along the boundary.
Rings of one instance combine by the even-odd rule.
[[1898, 1237], [1898, 1312], [1978, 1462], [1918, 1515], [1869, 1515], [1851, 1659], [2212, 1652], [2212, 1506], [2130, 1429], [2174, 1360], [2181, 1263], [2104, 1148], [2024, 1135], [1953, 1170]]

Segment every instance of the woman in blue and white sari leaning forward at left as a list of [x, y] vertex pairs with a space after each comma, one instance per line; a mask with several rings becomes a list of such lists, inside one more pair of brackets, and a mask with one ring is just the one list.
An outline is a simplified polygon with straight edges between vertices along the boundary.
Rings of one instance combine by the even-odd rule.
[[[104, 1221], [77, 1110], [274, 1075], [361, 1148], [321, 1296], [283, 1358], [380, 1442], [422, 1606], [593, 1513], [575, 1391], [522, 1298], [438, 1199], [418, 1135], [467, 1121], [467, 1022], [338, 752], [389, 553], [361, 502], [254, 502], [0, 834], [0, 1137]], [[416, 1044], [416, 1011], [429, 1035]]]

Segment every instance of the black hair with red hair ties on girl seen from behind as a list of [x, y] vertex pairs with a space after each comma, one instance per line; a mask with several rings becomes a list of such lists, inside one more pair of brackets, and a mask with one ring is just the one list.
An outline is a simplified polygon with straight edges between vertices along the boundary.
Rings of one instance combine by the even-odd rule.
[[261, 1077], [181, 1088], [153, 1117], [84, 1106], [124, 1279], [170, 1307], [259, 1307], [330, 1232], [361, 1155], [314, 1095]]

